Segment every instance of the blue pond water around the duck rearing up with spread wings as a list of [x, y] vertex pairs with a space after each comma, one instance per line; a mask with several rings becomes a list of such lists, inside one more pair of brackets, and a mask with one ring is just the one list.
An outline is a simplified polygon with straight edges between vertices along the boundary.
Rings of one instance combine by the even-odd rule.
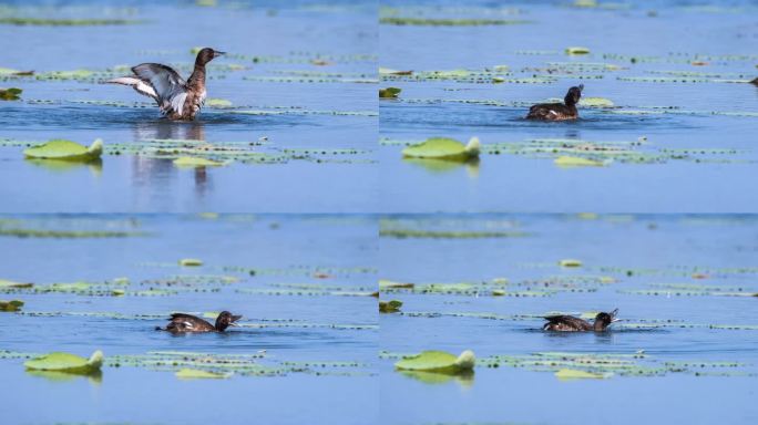
[[[180, 73], [187, 77], [191, 71], [187, 66], [194, 62], [190, 50], [211, 45], [229, 53], [229, 58], [216, 59], [209, 65], [211, 99], [227, 100], [244, 111], [289, 108], [375, 115], [240, 115], [206, 107], [196, 122], [172, 123], [162, 120], [150, 103], [136, 108], [78, 103], [107, 101], [130, 106], [152, 102], [129, 87], [98, 84], [101, 80], [98, 77], [88, 81], [13, 79], [1, 86], [22, 89], [22, 101], [0, 102], [0, 138], [33, 143], [68, 138], [89, 145], [100, 137], [106, 146], [186, 138], [238, 142], [246, 146], [266, 137], [268, 144], [258, 152], [350, 148], [360, 151], [361, 155], [338, 157], [349, 159], [348, 163], [234, 163], [197, 175], [174, 167], [170, 159], [132, 155], [106, 155], [96, 170], [86, 166], [52, 170], [25, 162], [22, 148], [3, 146], [0, 178], [13, 182], [0, 188], [0, 196], [9, 199], [3, 203], [3, 211], [361, 212], [373, 209], [377, 117], [372, 85], [277, 80], [297, 77], [301, 72], [334, 73], [356, 80], [359, 75], [376, 77], [376, 8], [370, 2], [342, 7], [337, 3], [331, 8], [317, 8], [311, 2], [218, 8], [198, 8], [185, 2], [160, 6], [76, 2], [47, 9], [23, 3], [19, 8], [16, 14], [125, 18], [145, 22], [68, 28], [0, 25], [3, 45], [12, 46], [4, 49], [4, 68], [40, 74], [160, 62], [182, 65]], [[256, 63], [253, 56], [265, 61]], [[310, 60], [317, 58], [324, 58], [328, 64], [311, 64]], [[229, 65], [243, 69], [224, 69]]]

